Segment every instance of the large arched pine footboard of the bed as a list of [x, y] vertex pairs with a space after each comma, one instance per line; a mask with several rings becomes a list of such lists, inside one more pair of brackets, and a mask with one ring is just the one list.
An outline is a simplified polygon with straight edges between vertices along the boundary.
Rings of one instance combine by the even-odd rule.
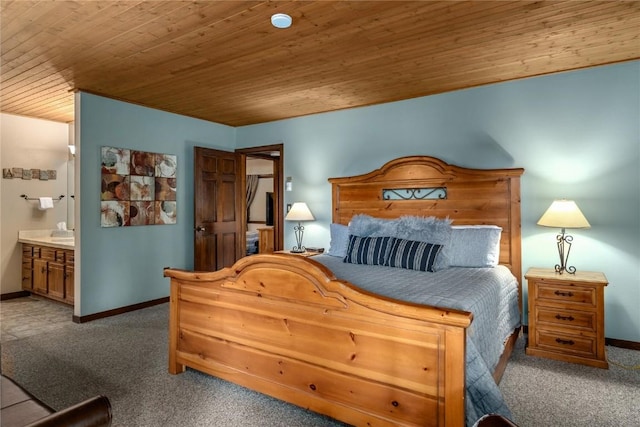
[[470, 313], [373, 295], [283, 254], [164, 274], [169, 372], [190, 367], [353, 425], [464, 425]]

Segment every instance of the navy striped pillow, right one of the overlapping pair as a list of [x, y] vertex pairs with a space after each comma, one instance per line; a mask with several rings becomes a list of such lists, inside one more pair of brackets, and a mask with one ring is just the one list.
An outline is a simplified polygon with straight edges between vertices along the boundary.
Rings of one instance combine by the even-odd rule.
[[442, 245], [435, 243], [395, 239], [384, 265], [408, 270], [434, 271], [434, 265], [441, 249]]

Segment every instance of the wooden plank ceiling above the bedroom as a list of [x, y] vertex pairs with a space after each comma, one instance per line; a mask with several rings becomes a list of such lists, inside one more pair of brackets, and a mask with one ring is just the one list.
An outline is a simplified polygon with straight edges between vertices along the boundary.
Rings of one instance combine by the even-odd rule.
[[640, 58], [638, 1], [1, 7], [0, 111], [62, 122], [74, 90], [240, 126]]

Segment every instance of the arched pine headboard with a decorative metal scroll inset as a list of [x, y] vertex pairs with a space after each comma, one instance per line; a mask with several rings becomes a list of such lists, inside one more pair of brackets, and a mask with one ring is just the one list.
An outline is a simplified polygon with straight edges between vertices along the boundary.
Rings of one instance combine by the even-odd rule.
[[[332, 220], [348, 224], [356, 214], [377, 218], [415, 215], [449, 217], [458, 225], [497, 225], [502, 227], [500, 263], [521, 282], [523, 173], [522, 168], [469, 169], [429, 156], [401, 157], [367, 174], [330, 178]], [[431, 196], [435, 198], [425, 197], [429, 189], [435, 189]]]

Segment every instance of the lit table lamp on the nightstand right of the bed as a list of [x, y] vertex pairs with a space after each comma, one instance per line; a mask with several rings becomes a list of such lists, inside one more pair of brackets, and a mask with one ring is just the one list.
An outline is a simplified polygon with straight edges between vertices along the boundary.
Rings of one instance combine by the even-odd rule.
[[561, 228], [562, 231], [556, 237], [558, 245], [558, 255], [560, 256], [560, 264], [556, 264], [556, 272], [562, 274], [567, 272], [574, 274], [576, 268], [568, 267], [569, 252], [571, 251], [571, 242], [573, 237], [565, 235], [565, 228], [590, 228], [591, 225], [587, 218], [584, 217], [578, 205], [573, 200], [555, 200], [549, 206], [549, 209], [538, 220], [538, 225], [544, 227]]

